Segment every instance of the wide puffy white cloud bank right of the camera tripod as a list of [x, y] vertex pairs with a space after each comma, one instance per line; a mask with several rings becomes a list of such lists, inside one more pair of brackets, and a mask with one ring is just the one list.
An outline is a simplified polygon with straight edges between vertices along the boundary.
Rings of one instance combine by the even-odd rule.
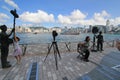
[[91, 19], [87, 18], [88, 14], [82, 13], [80, 10], [74, 10], [70, 15], [58, 15], [58, 22], [61, 24], [80, 24], [80, 25], [105, 25], [106, 20], [110, 17], [105, 10], [101, 13], [94, 13]]

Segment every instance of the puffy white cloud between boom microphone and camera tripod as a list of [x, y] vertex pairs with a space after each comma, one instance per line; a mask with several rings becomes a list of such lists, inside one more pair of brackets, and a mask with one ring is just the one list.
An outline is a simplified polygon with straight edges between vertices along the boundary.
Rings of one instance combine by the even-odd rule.
[[54, 22], [54, 15], [42, 10], [38, 10], [36, 13], [24, 12], [20, 15], [20, 20], [32, 23]]

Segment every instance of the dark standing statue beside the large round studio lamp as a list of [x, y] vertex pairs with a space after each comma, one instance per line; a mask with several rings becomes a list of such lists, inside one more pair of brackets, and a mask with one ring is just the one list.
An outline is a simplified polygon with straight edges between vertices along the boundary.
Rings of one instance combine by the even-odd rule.
[[96, 36], [96, 38], [97, 38], [97, 50], [98, 51], [103, 51], [104, 39], [103, 39], [103, 35], [102, 35], [101, 31], [99, 32], [99, 35]]

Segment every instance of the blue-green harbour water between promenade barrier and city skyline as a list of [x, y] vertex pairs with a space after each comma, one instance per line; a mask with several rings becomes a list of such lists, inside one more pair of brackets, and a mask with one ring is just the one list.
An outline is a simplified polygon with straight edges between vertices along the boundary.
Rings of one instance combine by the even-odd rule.
[[[21, 44], [38, 44], [38, 43], [51, 43], [53, 41], [52, 34], [41, 33], [41, 34], [33, 34], [33, 33], [17, 33], [17, 36], [20, 37]], [[80, 35], [60, 35], [56, 37], [57, 42], [79, 42], [83, 41], [86, 36], [90, 36], [91, 40], [93, 40], [93, 34], [80, 34]], [[103, 34], [105, 41], [120, 39], [120, 35], [115, 34]]]

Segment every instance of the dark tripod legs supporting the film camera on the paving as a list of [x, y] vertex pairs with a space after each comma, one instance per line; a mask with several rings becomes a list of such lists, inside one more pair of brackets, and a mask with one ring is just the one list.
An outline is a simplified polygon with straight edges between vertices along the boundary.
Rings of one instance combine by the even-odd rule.
[[57, 61], [57, 55], [59, 55], [59, 58], [61, 59], [61, 56], [60, 56], [60, 52], [59, 52], [59, 49], [58, 49], [58, 46], [57, 46], [57, 42], [56, 41], [53, 41], [50, 48], [48, 49], [48, 53], [44, 59], [44, 62], [46, 60], [46, 58], [48, 57], [48, 55], [50, 54], [50, 51], [51, 51], [51, 48], [53, 47], [53, 51], [54, 51], [54, 58], [55, 58], [55, 65], [56, 65], [56, 69], [58, 70], [58, 61]]

